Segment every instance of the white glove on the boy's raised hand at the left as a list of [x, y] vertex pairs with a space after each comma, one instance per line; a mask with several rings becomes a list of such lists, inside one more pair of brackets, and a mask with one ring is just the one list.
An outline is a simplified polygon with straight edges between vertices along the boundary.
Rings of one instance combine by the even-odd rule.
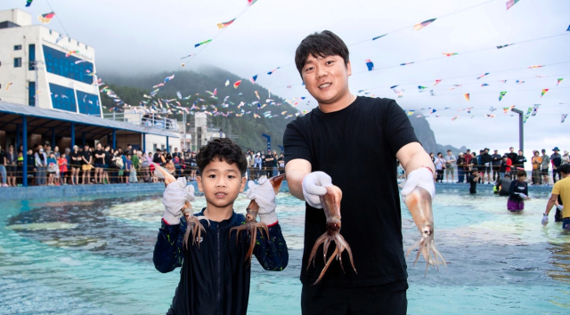
[[186, 201], [194, 201], [194, 186], [186, 186], [186, 179], [179, 177], [176, 182], [168, 184], [162, 194], [164, 215], [162, 218], [168, 224], [179, 224], [182, 216], [182, 208]]

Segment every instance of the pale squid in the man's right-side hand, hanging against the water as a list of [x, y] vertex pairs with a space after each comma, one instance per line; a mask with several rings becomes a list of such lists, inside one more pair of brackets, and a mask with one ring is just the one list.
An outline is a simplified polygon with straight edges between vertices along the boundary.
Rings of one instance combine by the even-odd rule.
[[437, 270], [439, 270], [440, 264], [446, 266], [444, 256], [439, 253], [434, 241], [434, 214], [431, 207], [431, 195], [428, 190], [416, 187], [411, 191], [410, 195], [406, 196], [404, 202], [408, 206], [413, 222], [416, 223], [421, 234], [419, 241], [406, 251], [406, 256], [408, 256], [412, 250], [419, 248], [412, 267], [418, 262], [419, 254], [426, 259], [426, 275], [430, 265], [436, 266]]

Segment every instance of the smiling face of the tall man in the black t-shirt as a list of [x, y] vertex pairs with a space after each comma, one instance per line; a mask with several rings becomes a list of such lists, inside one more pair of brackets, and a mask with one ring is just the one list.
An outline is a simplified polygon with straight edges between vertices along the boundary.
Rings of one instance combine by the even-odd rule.
[[350, 61], [345, 65], [340, 56], [314, 58], [309, 55], [301, 77], [307, 91], [319, 104], [330, 104], [348, 93], [348, 76], [351, 74]]

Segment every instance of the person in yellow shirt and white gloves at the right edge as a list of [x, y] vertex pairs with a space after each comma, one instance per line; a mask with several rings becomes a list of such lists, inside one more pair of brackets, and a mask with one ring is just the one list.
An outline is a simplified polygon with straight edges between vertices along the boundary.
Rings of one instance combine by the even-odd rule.
[[558, 205], [557, 208], [562, 212], [562, 230], [570, 231], [570, 206], [567, 206], [570, 205], [570, 177], [568, 177], [570, 175], [570, 164], [559, 166], [558, 171], [562, 179], [552, 187], [552, 194], [546, 204], [546, 211], [542, 214], [542, 225], [548, 224], [550, 210], [552, 206], [556, 205], [557, 199], [560, 197], [562, 204]]

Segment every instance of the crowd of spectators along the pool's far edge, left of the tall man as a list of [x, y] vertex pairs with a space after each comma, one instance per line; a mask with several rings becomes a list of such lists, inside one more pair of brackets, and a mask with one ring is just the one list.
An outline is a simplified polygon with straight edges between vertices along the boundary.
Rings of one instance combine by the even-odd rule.
[[[8, 149], [0, 146], [0, 176], [2, 187], [21, 186], [23, 176], [23, 146]], [[198, 173], [196, 152], [178, 151], [170, 153], [156, 149], [156, 152], [143, 152], [127, 144], [126, 149], [110, 148], [97, 143], [95, 147], [73, 146], [60, 150], [49, 144], [35, 145], [28, 149], [28, 185], [58, 186], [131, 182], [159, 182], [154, 174], [154, 166], [167, 168], [175, 177], [184, 176], [188, 181], [195, 181]], [[284, 173], [283, 153], [268, 150], [254, 152], [248, 149], [248, 179], [255, 180], [262, 175], [273, 177]]]

